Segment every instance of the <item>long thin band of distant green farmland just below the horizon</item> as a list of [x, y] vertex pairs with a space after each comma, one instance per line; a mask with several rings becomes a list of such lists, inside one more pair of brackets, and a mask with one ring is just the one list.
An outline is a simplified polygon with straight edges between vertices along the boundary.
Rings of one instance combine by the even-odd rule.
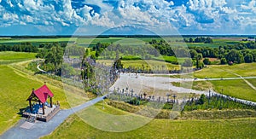
[[[18, 44], [18, 43], [33, 43], [38, 45], [38, 43], [54, 43], [54, 42], [73, 42], [75, 41], [79, 46], [91, 47], [96, 45], [96, 43], [119, 43], [121, 45], [138, 45], [150, 42], [152, 39], [160, 41], [160, 39], [165, 39], [166, 42], [170, 43], [172, 46], [201, 46], [201, 47], [213, 47], [224, 46], [227, 44], [239, 43], [241, 39], [236, 40], [230, 38], [213, 38], [213, 43], [183, 43], [179, 42], [183, 40], [182, 37], [163, 37], [163, 38], [12, 38], [3, 39], [0, 44]], [[189, 38], [186, 38], [189, 39]], [[178, 41], [178, 42], [177, 42]]]

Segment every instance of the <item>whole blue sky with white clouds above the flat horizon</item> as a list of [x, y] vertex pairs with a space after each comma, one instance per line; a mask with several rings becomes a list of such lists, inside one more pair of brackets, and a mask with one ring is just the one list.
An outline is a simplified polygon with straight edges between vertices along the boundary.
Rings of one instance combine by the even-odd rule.
[[256, 0], [0, 0], [0, 19], [0, 35], [256, 34]]

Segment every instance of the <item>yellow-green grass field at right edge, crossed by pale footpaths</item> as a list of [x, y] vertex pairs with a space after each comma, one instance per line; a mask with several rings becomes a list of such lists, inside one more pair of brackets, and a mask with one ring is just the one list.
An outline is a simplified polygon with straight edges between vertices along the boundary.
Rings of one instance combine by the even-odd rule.
[[[239, 78], [242, 77], [255, 77], [256, 76], [256, 63], [250, 64], [237, 64], [234, 66], [209, 66], [194, 73], [196, 78]], [[256, 85], [256, 79], [247, 79], [254, 86]], [[244, 80], [217, 80], [210, 81], [212, 85], [209, 88], [213, 88], [218, 93], [224, 95], [234, 96], [237, 98], [256, 101], [256, 90], [253, 90]], [[222, 90], [224, 90], [222, 92]]]

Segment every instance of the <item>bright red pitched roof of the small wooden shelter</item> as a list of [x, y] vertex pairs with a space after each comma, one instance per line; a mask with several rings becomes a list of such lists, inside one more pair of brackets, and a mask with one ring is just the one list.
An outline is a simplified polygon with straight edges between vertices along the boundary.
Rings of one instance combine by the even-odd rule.
[[46, 84], [44, 84], [38, 90], [32, 91], [32, 93], [34, 93], [38, 97], [39, 101], [41, 101], [42, 103], [44, 103], [47, 100], [48, 96], [54, 96], [54, 94], [49, 90]]

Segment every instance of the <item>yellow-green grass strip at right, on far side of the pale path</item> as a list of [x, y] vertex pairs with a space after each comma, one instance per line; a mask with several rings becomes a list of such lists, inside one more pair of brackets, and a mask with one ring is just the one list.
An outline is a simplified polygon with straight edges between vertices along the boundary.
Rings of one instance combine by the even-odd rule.
[[242, 63], [234, 66], [208, 66], [201, 71], [194, 72], [196, 78], [237, 78], [256, 76], [256, 63]]

